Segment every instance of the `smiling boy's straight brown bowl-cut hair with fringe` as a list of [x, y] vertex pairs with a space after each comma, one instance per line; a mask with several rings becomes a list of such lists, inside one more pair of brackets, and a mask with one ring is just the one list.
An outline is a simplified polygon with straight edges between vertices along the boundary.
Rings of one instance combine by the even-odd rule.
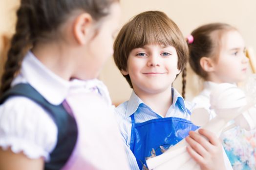
[[[178, 26], [163, 12], [147, 11], [126, 23], [114, 42], [114, 61], [119, 70], [127, 69], [129, 53], [146, 45], [173, 46], [178, 55], [177, 67], [185, 68], [189, 52]], [[129, 75], [124, 75], [131, 88]]]

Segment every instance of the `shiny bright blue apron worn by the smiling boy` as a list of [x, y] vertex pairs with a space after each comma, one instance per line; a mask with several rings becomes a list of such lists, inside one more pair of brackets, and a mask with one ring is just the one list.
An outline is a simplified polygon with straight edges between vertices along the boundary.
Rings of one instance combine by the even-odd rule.
[[[190, 112], [189, 112], [190, 113]], [[195, 131], [198, 126], [182, 118], [151, 119], [136, 123], [134, 114], [131, 115], [130, 149], [135, 155], [140, 170], [146, 170], [146, 159], [151, 155], [160, 155], [170, 146]]]

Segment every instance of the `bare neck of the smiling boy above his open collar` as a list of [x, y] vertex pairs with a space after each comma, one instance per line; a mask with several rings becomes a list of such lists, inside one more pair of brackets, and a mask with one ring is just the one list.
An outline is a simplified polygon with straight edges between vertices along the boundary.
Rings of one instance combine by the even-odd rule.
[[165, 117], [172, 104], [171, 88], [160, 93], [136, 92], [136, 95], [147, 104], [155, 113]]

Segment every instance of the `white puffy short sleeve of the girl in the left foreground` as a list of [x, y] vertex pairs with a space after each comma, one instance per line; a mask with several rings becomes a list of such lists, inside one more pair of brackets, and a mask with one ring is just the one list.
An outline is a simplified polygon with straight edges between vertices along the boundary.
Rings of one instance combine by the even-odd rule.
[[10, 97], [0, 105], [0, 147], [29, 158], [49, 158], [57, 142], [51, 116], [26, 97]]

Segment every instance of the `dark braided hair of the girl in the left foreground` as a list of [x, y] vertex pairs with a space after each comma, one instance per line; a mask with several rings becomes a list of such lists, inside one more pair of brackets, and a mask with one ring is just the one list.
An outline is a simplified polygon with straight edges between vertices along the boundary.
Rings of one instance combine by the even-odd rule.
[[37, 42], [52, 40], [73, 12], [86, 12], [99, 20], [108, 15], [109, 6], [119, 0], [21, 0], [17, 11], [16, 33], [11, 40], [1, 78], [0, 94], [10, 88], [25, 53]]

